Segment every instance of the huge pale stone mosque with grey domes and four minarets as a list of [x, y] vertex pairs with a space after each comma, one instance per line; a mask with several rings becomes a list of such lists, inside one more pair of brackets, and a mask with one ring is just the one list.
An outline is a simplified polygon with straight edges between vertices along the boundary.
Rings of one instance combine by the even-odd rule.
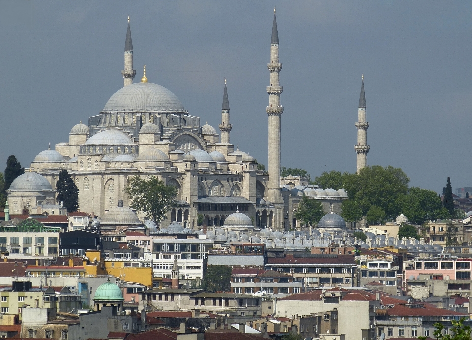
[[[177, 221], [184, 228], [197, 226], [204, 216], [207, 226], [223, 226], [226, 217], [239, 212], [251, 218], [256, 229], [287, 231], [300, 227], [296, 220], [303, 196], [320, 200], [324, 210], [340, 212], [347, 199], [341, 190], [322, 190], [300, 180], [280, 177], [280, 131], [283, 87], [279, 83], [279, 37], [274, 13], [268, 63], [268, 171], [257, 169], [256, 160], [231, 143], [232, 124], [226, 80], [223, 89], [219, 132], [201, 126], [200, 118], [185, 110], [177, 96], [148, 81], [146, 68], [140, 82], [134, 82], [133, 43], [128, 18], [124, 47], [124, 86], [114, 93], [98, 115], [73, 126], [68, 142], [55, 150], [40, 152], [24, 175], [9, 190], [10, 214], [21, 214], [22, 196], [32, 209], [54, 205], [59, 171], [67, 169], [79, 188], [80, 211], [105, 216], [110, 209], [129, 205], [123, 188], [131, 176], [154, 175], [177, 188], [177, 202], [161, 228]], [[359, 102], [359, 166], [367, 165], [365, 96], [362, 81]], [[362, 106], [362, 107], [361, 107]], [[46, 180], [44, 180], [46, 179]], [[28, 192], [26, 193], [27, 190]]]

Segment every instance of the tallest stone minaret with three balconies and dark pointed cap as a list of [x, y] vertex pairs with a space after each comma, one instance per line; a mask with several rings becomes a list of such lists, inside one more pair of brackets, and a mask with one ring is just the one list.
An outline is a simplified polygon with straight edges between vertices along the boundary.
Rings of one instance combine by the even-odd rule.
[[280, 86], [279, 73], [282, 64], [279, 63], [279, 34], [277, 32], [277, 21], [272, 25], [272, 37], [270, 39], [270, 63], [267, 65], [270, 72], [270, 86], [267, 86], [269, 94], [269, 105], [266, 108], [269, 125], [268, 138], [268, 195], [267, 199], [276, 206], [280, 206], [275, 214], [274, 226], [277, 229], [283, 228], [283, 199], [280, 192], [280, 117], [284, 112], [284, 108], [280, 105], [280, 94], [283, 87]]

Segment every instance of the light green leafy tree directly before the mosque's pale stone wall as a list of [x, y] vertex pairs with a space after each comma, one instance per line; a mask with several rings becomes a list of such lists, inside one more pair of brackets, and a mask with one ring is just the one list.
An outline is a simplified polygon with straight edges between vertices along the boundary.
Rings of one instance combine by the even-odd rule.
[[174, 186], [165, 185], [152, 175], [148, 180], [140, 176], [129, 177], [123, 191], [128, 195], [131, 207], [141, 211], [156, 224], [167, 218], [167, 212], [177, 198], [177, 189]]

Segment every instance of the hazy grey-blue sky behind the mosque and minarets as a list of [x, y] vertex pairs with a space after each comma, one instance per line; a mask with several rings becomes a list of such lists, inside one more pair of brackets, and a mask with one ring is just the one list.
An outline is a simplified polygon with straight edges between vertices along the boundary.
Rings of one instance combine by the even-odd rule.
[[270, 34], [277, 6], [282, 165], [355, 171], [365, 77], [369, 165], [411, 186], [472, 186], [472, 1], [0, 1], [0, 169], [68, 140], [123, 86], [127, 15], [135, 80], [174, 92], [202, 124], [267, 165]]

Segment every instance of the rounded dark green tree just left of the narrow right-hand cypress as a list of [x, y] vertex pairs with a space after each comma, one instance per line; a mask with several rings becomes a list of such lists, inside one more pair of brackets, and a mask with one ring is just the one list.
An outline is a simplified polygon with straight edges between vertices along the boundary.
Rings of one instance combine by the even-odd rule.
[[403, 214], [413, 224], [423, 224], [427, 220], [450, 218], [447, 209], [442, 207], [441, 199], [434, 191], [411, 187], [408, 189], [408, 194], [401, 196], [399, 201], [401, 202]]

